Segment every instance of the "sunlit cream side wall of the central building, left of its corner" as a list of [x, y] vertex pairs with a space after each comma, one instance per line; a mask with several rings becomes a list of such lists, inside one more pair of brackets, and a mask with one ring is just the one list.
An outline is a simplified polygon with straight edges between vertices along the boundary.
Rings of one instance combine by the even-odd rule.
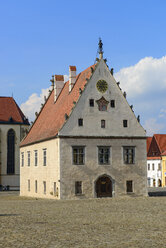
[[[46, 152], [46, 166], [43, 165], [43, 149]], [[35, 150], [38, 151], [38, 164], [35, 166]], [[20, 149], [20, 195], [32, 197], [54, 198], [60, 197], [60, 172], [59, 172], [59, 141], [52, 139], [49, 141], [36, 143]], [[30, 166], [28, 166], [27, 152], [30, 152]], [[24, 166], [22, 166], [21, 153], [24, 153]], [[30, 180], [30, 190], [28, 191], [28, 180]], [[35, 192], [35, 181], [37, 181], [37, 192]], [[46, 182], [46, 192], [44, 193], [44, 183]], [[56, 183], [56, 192], [54, 187]], [[57, 189], [58, 188], [58, 189]]]

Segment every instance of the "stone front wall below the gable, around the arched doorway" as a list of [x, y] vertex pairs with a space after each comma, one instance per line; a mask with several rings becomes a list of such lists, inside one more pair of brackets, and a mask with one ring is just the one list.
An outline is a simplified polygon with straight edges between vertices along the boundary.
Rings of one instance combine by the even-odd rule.
[[[72, 146], [85, 146], [85, 164], [73, 165]], [[98, 146], [110, 146], [110, 165], [99, 165]], [[135, 146], [135, 164], [124, 164], [123, 146]], [[126, 181], [133, 181], [133, 193], [146, 195], [146, 140], [145, 139], [72, 139], [60, 140], [61, 198], [96, 197], [95, 182], [107, 175], [113, 182], [113, 196], [126, 195]], [[75, 181], [82, 181], [83, 194], [75, 195]]]

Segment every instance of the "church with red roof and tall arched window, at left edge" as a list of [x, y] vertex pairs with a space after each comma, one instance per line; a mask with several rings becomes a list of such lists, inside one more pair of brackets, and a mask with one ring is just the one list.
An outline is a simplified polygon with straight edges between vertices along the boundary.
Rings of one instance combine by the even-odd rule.
[[0, 190], [19, 190], [19, 146], [28, 129], [28, 119], [13, 97], [0, 97]]

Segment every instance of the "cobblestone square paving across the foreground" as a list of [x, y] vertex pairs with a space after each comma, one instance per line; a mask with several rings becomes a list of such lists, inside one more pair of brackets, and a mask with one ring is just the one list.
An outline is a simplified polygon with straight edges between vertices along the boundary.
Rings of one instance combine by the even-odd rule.
[[166, 247], [166, 197], [44, 200], [0, 193], [0, 247]]

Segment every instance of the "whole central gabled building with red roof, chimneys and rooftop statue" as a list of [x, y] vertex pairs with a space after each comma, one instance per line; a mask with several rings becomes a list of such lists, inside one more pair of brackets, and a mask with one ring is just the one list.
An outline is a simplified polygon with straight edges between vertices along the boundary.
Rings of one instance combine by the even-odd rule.
[[21, 196], [147, 195], [146, 133], [103, 59], [52, 90], [21, 142]]

